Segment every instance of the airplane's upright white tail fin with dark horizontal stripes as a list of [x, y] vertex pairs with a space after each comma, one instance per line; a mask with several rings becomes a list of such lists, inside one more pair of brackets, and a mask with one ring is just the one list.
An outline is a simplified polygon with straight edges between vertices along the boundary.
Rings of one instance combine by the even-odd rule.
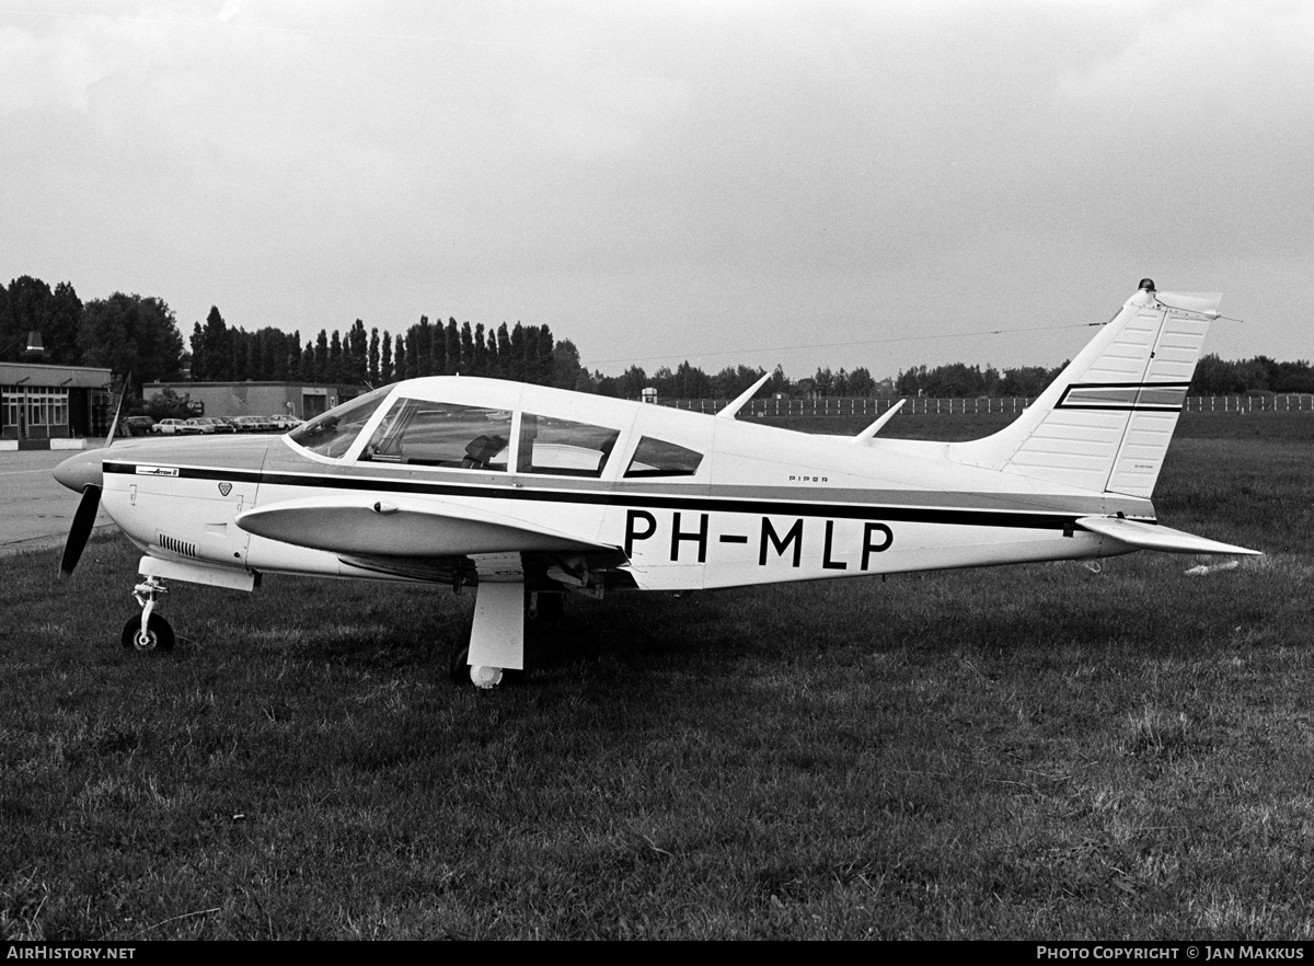
[[1155, 292], [1147, 279], [1017, 422], [951, 444], [950, 459], [1150, 497], [1221, 298]]

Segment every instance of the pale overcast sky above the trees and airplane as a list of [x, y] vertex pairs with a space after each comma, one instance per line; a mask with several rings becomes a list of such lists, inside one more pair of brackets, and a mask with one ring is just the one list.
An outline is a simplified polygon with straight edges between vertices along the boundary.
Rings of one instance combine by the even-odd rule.
[[1150, 276], [1309, 359], [1311, 118], [1301, 0], [0, 0], [0, 276], [795, 379], [1053, 367]]

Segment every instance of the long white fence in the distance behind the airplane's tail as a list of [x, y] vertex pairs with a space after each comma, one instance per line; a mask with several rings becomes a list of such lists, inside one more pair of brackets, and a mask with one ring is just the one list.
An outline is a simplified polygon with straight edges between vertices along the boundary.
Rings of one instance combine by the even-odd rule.
[[[897, 398], [820, 398], [820, 400], [753, 400], [740, 410], [740, 417], [827, 417], [870, 415], [875, 419], [899, 402]], [[1031, 403], [1030, 398], [926, 400], [908, 397], [899, 415], [971, 415], [1004, 413], [1016, 415]], [[695, 413], [717, 413], [728, 400], [658, 400], [660, 406], [689, 409]], [[1188, 396], [1187, 413], [1314, 413], [1314, 396]]]

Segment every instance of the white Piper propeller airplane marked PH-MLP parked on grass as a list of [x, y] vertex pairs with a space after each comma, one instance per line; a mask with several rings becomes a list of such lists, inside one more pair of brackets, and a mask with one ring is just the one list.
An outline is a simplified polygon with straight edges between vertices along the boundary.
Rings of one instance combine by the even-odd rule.
[[474, 589], [453, 673], [524, 668], [528, 606], [1137, 549], [1251, 555], [1160, 526], [1151, 493], [1218, 294], [1122, 309], [984, 439], [809, 435], [459, 376], [368, 392], [273, 438], [124, 440], [55, 469], [81, 493], [60, 573], [102, 503], [143, 553], [122, 643], [168, 649], [166, 581], [251, 591], [267, 573]]

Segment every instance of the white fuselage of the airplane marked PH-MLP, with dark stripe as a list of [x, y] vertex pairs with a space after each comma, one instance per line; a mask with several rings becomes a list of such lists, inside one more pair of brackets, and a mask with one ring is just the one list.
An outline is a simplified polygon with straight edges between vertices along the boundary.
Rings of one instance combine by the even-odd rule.
[[[495, 413], [499, 468], [371, 459], [403, 397]], [[549, 444], [531, 418], [610, 442], [591, 456]], [[1148, 499], [963, 465], [947, 444], [809, 436], [497, 380], [398, 384], [361, 426], [332, 455], [288, 436], [116, 444], [102, 505], [150, 556], [200, 568], [415, 580], [407, 561], [615, 548], [645, 590], [1108, 556], [1129, 547], [1076, 519], [1154, 518]], [[689, 459], [662, 476], [644, 440], [700, 456], [696, 469]]]

